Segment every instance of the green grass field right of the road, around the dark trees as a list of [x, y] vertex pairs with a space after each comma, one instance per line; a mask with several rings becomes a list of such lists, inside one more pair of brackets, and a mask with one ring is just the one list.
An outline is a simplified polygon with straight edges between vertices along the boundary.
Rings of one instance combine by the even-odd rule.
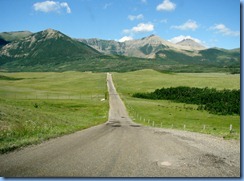
[[[209, 87], [216, 89], [240, 89], [240, 75], [224, 73], [159, 73], [142, 70], [130, 73], [113, 73], [117, 91], [122, 96], [129, 114], [135, 122], [164, 128], [174, 128], [239, 139], [239, 115], [214, 115], [198, 111], [197, 105], [166, 100], [133, 98], [136, 92], [152, 92], [162, 87]], [[145, 120], [145, 121], [144, 121]], [[150, 121], [149, 121], [150, 120]], [[230, 124], [233, 130], [230, 133]], [[184, 126], [185, 125], [185, 126]], [[205, 128], [205, 129], [204, 129]]]

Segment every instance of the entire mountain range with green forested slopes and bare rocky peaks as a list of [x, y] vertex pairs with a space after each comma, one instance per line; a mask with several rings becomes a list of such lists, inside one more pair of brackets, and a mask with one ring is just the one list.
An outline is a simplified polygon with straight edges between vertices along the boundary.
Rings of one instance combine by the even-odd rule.
[[192, 39], [174, 44], [156, 35], [117, 42], [74, 39], [53, 29], [0, 33], [0, 71], [165, 70], [186, 65], [240, 68], [240, 49], [206, 48]]

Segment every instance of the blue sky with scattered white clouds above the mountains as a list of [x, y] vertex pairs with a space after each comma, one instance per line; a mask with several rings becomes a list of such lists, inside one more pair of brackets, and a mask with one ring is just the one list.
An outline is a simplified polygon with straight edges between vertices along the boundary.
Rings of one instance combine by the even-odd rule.
[[240, 47], [240, 0], [0, 0], [0, 32], [52, 28], [72, 38], [151, 34], [211, 48]]

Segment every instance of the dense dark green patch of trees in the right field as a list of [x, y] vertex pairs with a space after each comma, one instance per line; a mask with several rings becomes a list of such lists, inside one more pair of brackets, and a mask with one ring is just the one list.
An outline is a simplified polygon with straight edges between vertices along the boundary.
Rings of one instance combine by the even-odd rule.
[[180, 86], [157, 89], [151, 93], [135, 93], [133, 97], [197, 104], [199, 105], [198, 110], [207, 110], [213, 114], [240, 115], [240, 90], [216, 90], [207, 87]]

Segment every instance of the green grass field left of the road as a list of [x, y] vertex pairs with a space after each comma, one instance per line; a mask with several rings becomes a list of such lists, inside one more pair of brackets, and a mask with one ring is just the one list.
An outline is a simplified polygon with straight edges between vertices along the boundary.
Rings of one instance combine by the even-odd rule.
[[0, 152], [107, 121], [104, 73], [4, 73], [0, 80]]

